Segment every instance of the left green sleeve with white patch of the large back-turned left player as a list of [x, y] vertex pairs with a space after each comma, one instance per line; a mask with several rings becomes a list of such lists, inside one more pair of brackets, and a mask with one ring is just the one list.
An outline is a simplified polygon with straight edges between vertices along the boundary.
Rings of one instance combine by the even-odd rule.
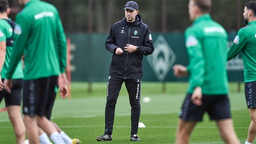
[[16, 25], [14, 28], [14, 43], [11, 51], [11, 59], [9, 63], [9, 68], [6, 72], [6, 78], [10, 79], [17, 63], [19, 62], [21, 55], [23, 54], [24, 48], [26, 46], [26, 42], [28, 40], [29, 34], [29, 22], [26, 20], [21, 20], [22, 15], [16, 16]]

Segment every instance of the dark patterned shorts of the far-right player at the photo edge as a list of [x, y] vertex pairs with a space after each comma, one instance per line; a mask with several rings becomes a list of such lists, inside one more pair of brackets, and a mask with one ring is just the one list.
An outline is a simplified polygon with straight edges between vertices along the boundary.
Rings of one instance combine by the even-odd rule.
[[247, 108], [256, 108], [256, 81], [244, 82]]

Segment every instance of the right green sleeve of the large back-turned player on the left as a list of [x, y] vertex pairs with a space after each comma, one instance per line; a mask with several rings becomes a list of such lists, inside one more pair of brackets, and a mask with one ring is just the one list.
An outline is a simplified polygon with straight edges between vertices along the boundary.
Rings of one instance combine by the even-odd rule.
[[59, 53], [59, 68], [60, 72], [65, 72], [66, 66], [66, 37], [63, 30], [62, 23], [60, 21], [59, 15], [57, 13], [57, 42], [58, 42], [58, 53]]

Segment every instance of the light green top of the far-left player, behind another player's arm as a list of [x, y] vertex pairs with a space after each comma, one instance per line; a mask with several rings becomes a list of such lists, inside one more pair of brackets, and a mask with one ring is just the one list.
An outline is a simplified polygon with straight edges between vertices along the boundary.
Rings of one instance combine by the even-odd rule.
[[[3, 19], [0, 19], [0, 41], [6, 41], [6, 38], [9, 38], [12, 36], [12, 28], [10, 24]], [[1, 72], [1, 77], [6, 78], [6, 71], [9, 67], [9, 62], [10, 62], [10, 57], [11, 57], [11, 46], [6, 46], [6, 55], [5, 55], [5, 60], [4, 64], [2, 66]], [[16, 66], [14, 73], [12, 75], [12, 79], [18, 79], [18, 78], [23, 78], [23, 69], [20, 61], [21, 57], [19, 57], [19, 62], [18, 65]]]

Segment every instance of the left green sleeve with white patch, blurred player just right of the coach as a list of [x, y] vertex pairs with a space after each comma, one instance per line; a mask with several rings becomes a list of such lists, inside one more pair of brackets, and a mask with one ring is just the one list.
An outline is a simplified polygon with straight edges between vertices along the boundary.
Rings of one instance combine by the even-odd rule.
[[199, 38], [194, 33], [187, 33], [186, 48], [189, 56], [187, 71], [189, 73], [189, 84], [192, 89], [202, 85], [204, 81], [204, 56]]

